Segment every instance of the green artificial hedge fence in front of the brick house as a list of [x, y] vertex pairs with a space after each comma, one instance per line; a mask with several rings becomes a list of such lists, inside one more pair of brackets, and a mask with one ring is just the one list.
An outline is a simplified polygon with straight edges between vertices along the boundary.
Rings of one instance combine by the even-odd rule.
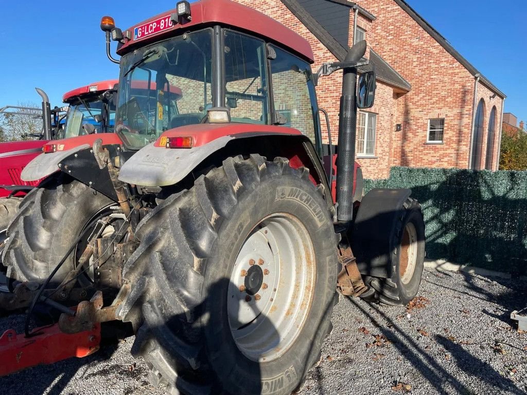
[[409, 188], [422, 205], [426, 256], [527, 274], [527, 171], [393, 167], [372, 188]]

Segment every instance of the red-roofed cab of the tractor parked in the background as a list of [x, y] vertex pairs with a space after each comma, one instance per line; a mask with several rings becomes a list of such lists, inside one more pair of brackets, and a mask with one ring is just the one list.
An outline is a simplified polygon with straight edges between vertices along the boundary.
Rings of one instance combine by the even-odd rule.
[[57, 139], [92, 133], [113, 132], [117, 80], [101, 81], [67, 92], [69, 104], [65, 124], [57, 128]]

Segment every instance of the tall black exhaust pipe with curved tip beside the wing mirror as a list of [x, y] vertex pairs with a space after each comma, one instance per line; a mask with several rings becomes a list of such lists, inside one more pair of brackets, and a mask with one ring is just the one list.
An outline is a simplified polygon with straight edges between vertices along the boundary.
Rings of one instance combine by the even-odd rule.
[[[349, 48], [345, 62], [358, 62], [366, 53], [366, 41]], [[357, 69], [344, 68], [338, 124], [337, 219], [353, 220], [353, 183], [355, 177], [355, 140], [357, 132]]]

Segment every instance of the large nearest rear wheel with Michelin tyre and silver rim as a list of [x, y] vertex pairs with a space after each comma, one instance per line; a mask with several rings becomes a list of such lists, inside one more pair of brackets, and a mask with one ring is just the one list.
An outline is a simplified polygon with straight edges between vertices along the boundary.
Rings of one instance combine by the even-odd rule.
[[[285, 159], [229, 158], [139, 225], [118, 314], [153, 384], [289, 394], [320, 358], [337, 238], [322, 188]], [[179, 391], [179, 392], [178, 392]]]

